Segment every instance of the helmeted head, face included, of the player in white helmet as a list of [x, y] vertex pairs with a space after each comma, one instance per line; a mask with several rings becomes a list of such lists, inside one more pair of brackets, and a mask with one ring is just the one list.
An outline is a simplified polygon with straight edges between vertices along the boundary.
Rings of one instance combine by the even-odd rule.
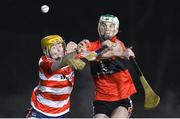
[[111, 39], [118, 33], [118, 30], [119, 20], [117, 17], [114, 15], [102, 15], [100, 17], [98, 23], [98, 33], [102, 40]]

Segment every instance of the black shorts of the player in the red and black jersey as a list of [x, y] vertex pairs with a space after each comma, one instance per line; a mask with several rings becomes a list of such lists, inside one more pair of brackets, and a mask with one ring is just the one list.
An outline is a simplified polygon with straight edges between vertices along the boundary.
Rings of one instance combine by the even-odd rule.
[[95, 114], [106, 114], [111, 116], [111, 113], [114, 109], [119, 106], [125, 107], [128, 111], [132, 109], [132, 100], [130, 98], [119, 100], [119, 101], [100, 101], [96, 100], [93, 102], [94, 106], [94, 115]]

